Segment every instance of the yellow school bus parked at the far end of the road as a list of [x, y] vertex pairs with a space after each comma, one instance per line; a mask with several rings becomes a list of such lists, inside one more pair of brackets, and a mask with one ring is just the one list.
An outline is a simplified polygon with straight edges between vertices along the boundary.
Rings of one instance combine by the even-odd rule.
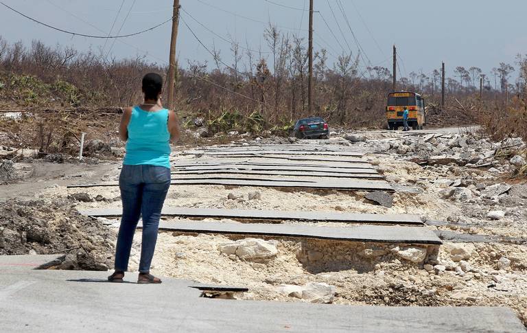
[[425, 100], [419, 93], [410, 91], [388, 93], [386, 103], [388, 129], [397, 130], [399, 126], [403, 126], [405, 106], [408, 108], [408, 126], [414, 130], [422, 130], [426, 123]]

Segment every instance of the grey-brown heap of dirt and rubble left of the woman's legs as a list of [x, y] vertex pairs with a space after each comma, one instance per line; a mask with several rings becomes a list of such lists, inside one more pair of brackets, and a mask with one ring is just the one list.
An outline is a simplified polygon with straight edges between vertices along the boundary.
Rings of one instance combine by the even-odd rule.
[[115, 233], [69, 200], [10, 200], [0, 216], [0, 255], [62, 253], [61, 269], [106, 271], [112, 264]]

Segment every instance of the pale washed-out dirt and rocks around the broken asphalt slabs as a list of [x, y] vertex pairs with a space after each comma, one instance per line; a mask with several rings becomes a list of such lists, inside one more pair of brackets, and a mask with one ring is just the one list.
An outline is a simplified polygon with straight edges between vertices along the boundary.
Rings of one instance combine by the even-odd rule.
[[[508, 181], [506, 175], [515, 165], [494, 156], [495, 149], [499, 148], [496, 143], [473, 133], [471, 129], [460, 128], [408, 133], [361, 131], [352, 133], [354, 138], [351, 141], [354, 142], [345, 139], [351, 133], [339, 133], [329, 141], [298, 142], [368, 152], [364, 158], [398, 189], [393, 194], [390, 208], [367, 200], [364, 198], [366, 192], [283, 191], [221, 185], [173, 185], [165, 202], [165, 206], [170, 207], [418, 214], [423, 221], [428, 221], [425, 227], [434, 231], [494, 237], [493, 241], [487, 242], [445, 241], [436, 266], [397, 260], [390, 254], [375, 260], [363, 258], [361, 262], [353, 257], [357, 251], [355, 245], [331, 241], [311, 242], [309, 246], [334, 263], [349, 260], [352, 264], [309, 266], [299, 259], [306, 241], [294, 238], [263, 238], [276, 241], [277, 255], [270, 260], [255, 262], [225, 255], [218, 250], [224, 243], [243, 239], [241, 236], [161, 232], [152, 270], [157, 274], [198, 282], [247, 286], [250, 292], [242, 296], [244, 299], [299, 301], [283, 292], [283, 286], [325, 283], [336, 287], [334, 303], [508, 306], [526, 323], [527, 186], [522, 182]], [[174, 157], [174, 162], [188, 164], [212, 160], [199, 155]], [[275, 160], [242, 157], [229, 158], [229, 161], [271, 163]], [[65, 187], [74, 183], [115, 181], [119, 172], [117, 163], [75, 165], [73, 168], [71, 165], [52, 166], [53, 175], [40, 176], [43, 181], [34, 183], [28, 179], [0, 187], [0, 197], [24, 193], [25, 196], [51, 200], [83, 192], [89, 198], [99, 198], [77, 203], [78, 209], [120, 207], [117, 187], [81, 190]], [[37, 168], [47, 169], [48, 166]], [[99, 220], [108, 225], [118, 222], [117, 219]], [[283, 223], [310, 224], [302, 221]], [[331, 222], [321, 222], [320, 225], [348, 227]], [[132, 249], [132, 270], [137, 269], [139, 262], [140, 239], [138, 231]]]

